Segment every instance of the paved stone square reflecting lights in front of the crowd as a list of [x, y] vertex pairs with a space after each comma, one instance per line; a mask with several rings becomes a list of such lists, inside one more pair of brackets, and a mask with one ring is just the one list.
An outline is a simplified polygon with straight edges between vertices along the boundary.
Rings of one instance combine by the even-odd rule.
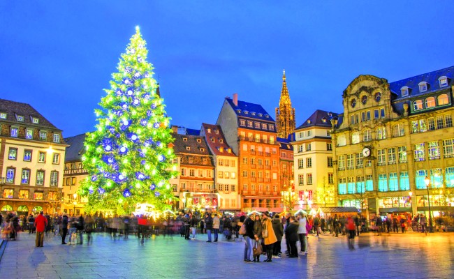
[[0, 278], [454, 278], [453, 236], [363, 234], [355, 250], [345, 237], [309, 236], [307, 256], [244, 263], [244, 242], [206, 243], [206, 234], [191, 241], [154, 236], [144, 243], [96, 234], [90, 246], [61, 245], [51, 237], [35, 248], [35, 235], [22, 233], [8, 241]]

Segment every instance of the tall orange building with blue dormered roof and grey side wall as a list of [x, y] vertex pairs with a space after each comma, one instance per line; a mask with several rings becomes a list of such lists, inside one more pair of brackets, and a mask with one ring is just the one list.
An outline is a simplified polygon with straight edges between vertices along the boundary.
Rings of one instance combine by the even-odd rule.
[[276, 123], [261, 105], [226, 98], [217, 119], [238, 156], [242, 211], [281, 211]]

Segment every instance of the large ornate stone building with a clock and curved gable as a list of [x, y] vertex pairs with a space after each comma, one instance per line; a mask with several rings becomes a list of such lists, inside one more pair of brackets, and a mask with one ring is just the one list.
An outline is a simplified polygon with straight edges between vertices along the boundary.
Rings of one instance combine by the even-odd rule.
[[360, 75], [349, 84], [344, 113], [332, 119], [339, 205], [382, 214], [452, 211], [453, 72], [391, 83]]

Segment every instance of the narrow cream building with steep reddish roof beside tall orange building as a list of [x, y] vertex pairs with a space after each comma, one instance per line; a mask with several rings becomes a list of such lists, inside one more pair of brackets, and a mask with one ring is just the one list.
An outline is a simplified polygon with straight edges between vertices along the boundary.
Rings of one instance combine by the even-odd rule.
[[219, 193], [219, 211], [239, 211], [238, 158], [228, 146], [220, 126], [202, 123], [200, 135], [205, 137], [214, 162], [214, 188]]

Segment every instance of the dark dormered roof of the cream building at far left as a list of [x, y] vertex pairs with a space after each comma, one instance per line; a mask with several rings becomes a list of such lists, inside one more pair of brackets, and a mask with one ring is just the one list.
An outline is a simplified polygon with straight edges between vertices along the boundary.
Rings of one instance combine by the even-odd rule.
[[[38, 128], [50, 128], [52, 130], [59, 130], [54, 124], [50, 123], [45, 117], [27, 103], [19, 103], [13, 100], [0, 99], [0, 112], [6, 113], [6, 119], [1, 121], [8, 121], [10, 123], [17, 123], [20, 125], [27, 125]], [[24, 116], [24, 121], [17, 121], [16, 116]], [[32, 122], [32, 117], [38, 119], [38, 123]]]

